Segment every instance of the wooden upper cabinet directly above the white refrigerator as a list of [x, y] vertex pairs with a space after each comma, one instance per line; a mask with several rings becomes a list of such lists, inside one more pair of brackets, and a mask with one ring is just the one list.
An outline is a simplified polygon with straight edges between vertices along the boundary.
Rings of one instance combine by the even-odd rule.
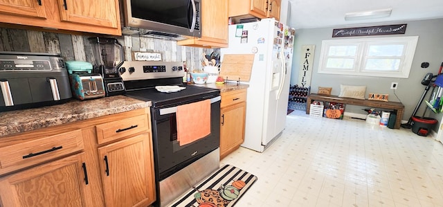
[[281, 0], [229, 0], [229, 17], [244, 19], [280, 19]]

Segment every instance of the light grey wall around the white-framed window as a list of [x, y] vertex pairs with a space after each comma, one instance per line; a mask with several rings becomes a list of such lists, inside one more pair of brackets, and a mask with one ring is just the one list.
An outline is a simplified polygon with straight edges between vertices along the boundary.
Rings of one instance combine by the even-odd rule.
[[[368, 26], [388, 24], [381, 23]], [[390, 89], [391, 82], [398, 82], [399, 86], [395, 93], [397, 93], [397, 96], [405, 105], [403, 120], [408, 120], [425, 89], [425, 87], [420, 83], [424, 78], [424, 75], [426, 75], [426, 73], [437, 74], [438, 70], [440, 69], [440, 64], [443, 62], [443, 19], [406, 21], [397, 22], [394, 24], [408, 24], [406, 34], [397, 36], [419, 36], [409, 78], [376, 78], [366, 76], [319, 74], [318, 61], [320, 60], [321, 42], [323, 39], [333, 39], [332, 30], [334, 28], [311, 28], [296, 30], [291, 84], [297, 84], [298, 81], [301, 46], [306, 44], [314, 44], [316, 48], [311, 78], [311, 93], [316, 93], [318, 87], [332, 87], [332, 95], [338, 95], [340, 93], [340, 84], [365, 85], [367, 87], [366, 98], [368, 98], [368, 93], [388, 93], [389, 100], [399, 101], [395, 97], [393, 90]], [[395, 36], [396, 35], [386, 35], [386, 37]], [[368, 36], [367, 38], [371, 37], [381, 36]], [[427, 69], [422, 69], [420, 67], [422, 62], [429, 62], [429, 67]], [[428, 95], [430, 93], [431, 91], [428, 92]], [[364, 107], [347, 106], [346, 111], [365, 114], [365, 111], [361, 110], [363, 108]], [[417, 116], [422, 116], [425, 108], [426, 104], [423, 104], [422, 107], [420, 107]], [[426, 111], [426, 116], [435, 116], [435, 114], [433, 114], [433, 112], [429, 112], [428, 110]], [[440, 120], [441, 115], [437, 116], [439, 116], [437, 120]]]

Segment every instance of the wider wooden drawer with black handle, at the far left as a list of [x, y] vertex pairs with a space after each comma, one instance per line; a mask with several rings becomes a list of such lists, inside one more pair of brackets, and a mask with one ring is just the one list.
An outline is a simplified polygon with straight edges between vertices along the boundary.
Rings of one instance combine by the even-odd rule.
[[0, 147], [0, 175], [83, 149], [81, 129]]

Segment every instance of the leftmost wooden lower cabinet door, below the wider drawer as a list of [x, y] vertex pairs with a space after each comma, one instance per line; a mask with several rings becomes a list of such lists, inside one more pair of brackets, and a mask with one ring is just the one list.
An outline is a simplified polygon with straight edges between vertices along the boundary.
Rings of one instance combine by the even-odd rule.
[[0, 179], [0, 206], [92, 206], [84, 153]]

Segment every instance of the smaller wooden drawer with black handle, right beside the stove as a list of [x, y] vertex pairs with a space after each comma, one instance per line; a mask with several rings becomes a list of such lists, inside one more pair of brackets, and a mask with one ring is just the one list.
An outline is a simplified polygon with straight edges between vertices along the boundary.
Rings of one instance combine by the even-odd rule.
[[147, 116], [141, 115], [96, 125], [96, 129], [97, 142], [100, 145], [139, 132], [147, 132], [150, 125]]

